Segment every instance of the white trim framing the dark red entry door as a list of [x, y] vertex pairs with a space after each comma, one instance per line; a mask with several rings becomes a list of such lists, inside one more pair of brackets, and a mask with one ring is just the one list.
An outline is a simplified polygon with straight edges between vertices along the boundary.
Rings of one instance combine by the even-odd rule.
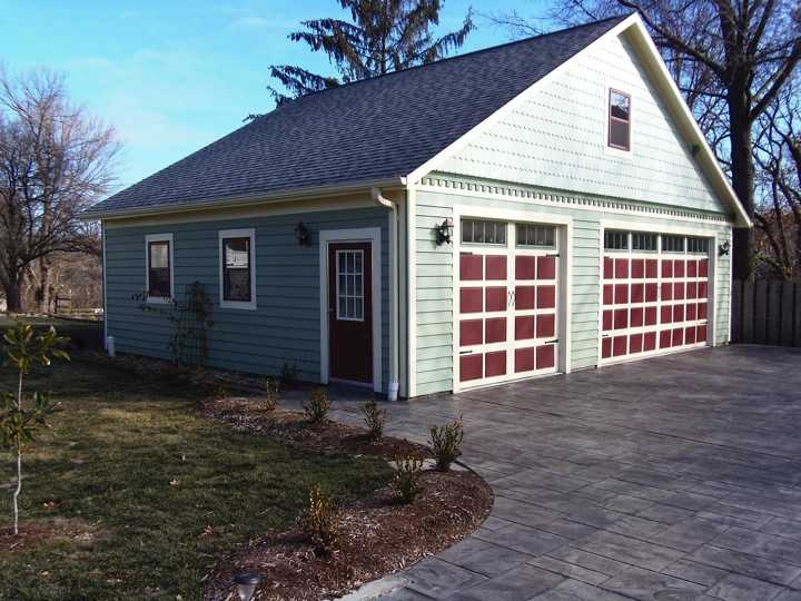
[[319, 233], [320, 288], [320, 383], [328, 384], [328, 245], [330, 243], [370, 243], [373, 280], [373, 390], [382, 392], [382, 246], [380, 228], [322, 229]]

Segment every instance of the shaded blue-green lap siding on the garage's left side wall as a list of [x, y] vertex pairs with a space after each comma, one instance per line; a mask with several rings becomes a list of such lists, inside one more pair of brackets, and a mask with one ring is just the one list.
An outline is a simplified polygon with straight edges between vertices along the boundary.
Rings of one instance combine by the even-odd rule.
[[[295, 226], [303, 221], [313, 246], [300, 247]], [[280, 373], [295, 365], [298, 377], [318, 382], [320, 229], [380, 227], [383, 382], [388, 381], [387, 211], [379, 207], [305, 213], [248, 219], [184, 223], [106, 229], [108, 335], [120, 353], [170, 356], [171, 324], [144, 313], [134, 296], [145, 289], [145, 236], [171, 233], [175, 292], [179, 299], [188, 284], [200, 282], [214, 300], [214, 327], [208, 331], [208, 362], [212, 367], [256, 374]], [[219, 307], [220, 229], [256, 229], [257, 311]]]

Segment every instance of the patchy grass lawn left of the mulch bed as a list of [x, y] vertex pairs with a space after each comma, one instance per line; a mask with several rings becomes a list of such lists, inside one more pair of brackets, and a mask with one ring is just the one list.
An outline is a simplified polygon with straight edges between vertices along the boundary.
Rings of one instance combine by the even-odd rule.
[[[12, 381], [0, 370], [0, 391]], [[199, 599], [215, 561], [290, 526], [312, 483], [345, 500], [390, 477], [379, 460], [308, 454], [211, 422], [175, 375], [146, 380], [83, 354], [29, 384], [63, 411], [23, 460], [21, 523], [67, 520], [92, 535], [0, 552], [0, 599]], [[4, 457], [0, 526], [11, 522]]]

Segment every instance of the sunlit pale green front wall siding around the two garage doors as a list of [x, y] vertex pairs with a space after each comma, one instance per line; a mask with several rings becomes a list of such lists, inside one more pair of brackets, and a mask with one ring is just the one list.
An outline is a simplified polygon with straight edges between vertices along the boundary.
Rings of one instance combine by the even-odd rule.
[[[615, 219], [650, 227], [701, 228], [705, 235], [730, 239], [731, 228], [720, 216], [691, 211], [655, 213], [656, 207], [642, 203], [629, 204], [583, 195], [566, 195], [533, 187], [506, 186], [497, 181], [458, 179], [442, 175], [424, 179], [416, 195], [416, 370], [418, 395], [452, 390], [453, 386], [453, 285], [457, 274], [453, 265], [453, 247], [437, 246], [434, 227], [453, 217], [454, 206], [496, 208], [570, 216], [573, 219], [571, 312], [571, 368], [597, 364], [599, 308], [601, 296], [601, 228], [602, 220]], [[446, 187], [447, 186], [447, 187]], [[455, 191], [472, 188], [471, 194]], [[531, 195], [531, 196], [527, 196]], [[537, 195], [541, 198], [537, 198]], [[550, 199], [547, 201], [543, 199]], [[577, 208], [578, 206], [583, 208]], [[642, 216], [622, 210], [641, 209]], [[467, 209], [468, 210], [468, 209]], [[679, 219], [681, 214], [684, 219]], [[686, 218], [694, 217], [696, 221]], [[642, 227], [642, 226], [640, 226]], [[729, 339], [729, 259], [716, 264], [716, 332], [715, 343]]]

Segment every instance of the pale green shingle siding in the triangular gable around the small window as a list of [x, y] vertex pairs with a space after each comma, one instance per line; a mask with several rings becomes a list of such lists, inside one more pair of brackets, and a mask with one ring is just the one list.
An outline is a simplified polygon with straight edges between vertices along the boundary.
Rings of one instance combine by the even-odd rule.
[[[606, 148], [609, 89], [632, 96], [632, 152]], [[438, 170], [612, 198], [722, 210], [625, 39], [537, 85]]]

